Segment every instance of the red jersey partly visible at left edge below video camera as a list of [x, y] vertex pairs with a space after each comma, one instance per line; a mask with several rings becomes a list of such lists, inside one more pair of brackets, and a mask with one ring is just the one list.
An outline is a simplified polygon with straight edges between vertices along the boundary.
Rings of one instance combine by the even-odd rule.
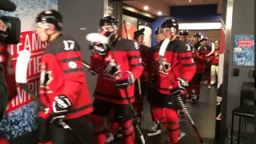
[[3, 74], [6, 78], [8, 98], [14, 98], [17, 95], [15, 73], [7, 45], [0, 45], [0, 64], [2, 65]]

